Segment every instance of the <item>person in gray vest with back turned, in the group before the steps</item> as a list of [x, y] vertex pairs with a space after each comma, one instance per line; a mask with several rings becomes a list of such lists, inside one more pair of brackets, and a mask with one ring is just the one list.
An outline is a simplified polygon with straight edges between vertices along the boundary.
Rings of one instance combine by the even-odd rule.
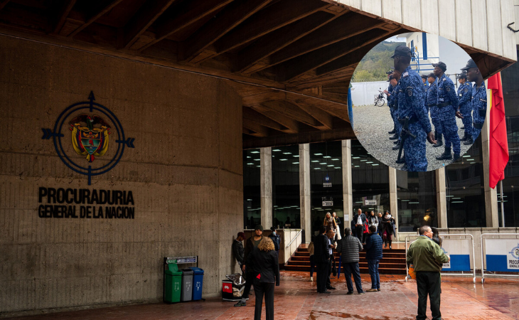
[[351, 274], [355, 281], [358, 294], [363, 294], [362, 283], [360, 282], [360, 270], [358, 267], [358, 252], [362, 251], [362, 243], [357, 237], [351, 235], [351, 229], [344, 229], [344, 237], [338, 242], [337, 252], [341, 253], [344, 277], [346, 277], [346, 285], [348, 293], [353, 294], [353, 283], [351, 282]]

